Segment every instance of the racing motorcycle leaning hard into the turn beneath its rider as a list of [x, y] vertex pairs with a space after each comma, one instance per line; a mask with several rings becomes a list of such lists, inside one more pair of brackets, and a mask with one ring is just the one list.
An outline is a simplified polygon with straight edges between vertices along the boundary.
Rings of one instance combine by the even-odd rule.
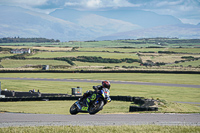
[[89, 113], [90, 115], [94, 115], [98, 113], [100, 110], [102, 110], [103, 106], [106, 105], [106, 103], [111, 100], [109, 95], [110, 95], [110, 91], [107, 88], [98, 91], [96, 95], [96, 99], [89, 103], [88, 111], [82, 111], [81, 108], [84, 106], [84, 103], [86, 102], [87, 98], [91, 96], [91, 94], [88, 97], [79, 98], [78, 101], [76, 101], [71, 106], [69, 110], [70, 114], [76, 115], [79, 112], [82, 112], [82, 113]]

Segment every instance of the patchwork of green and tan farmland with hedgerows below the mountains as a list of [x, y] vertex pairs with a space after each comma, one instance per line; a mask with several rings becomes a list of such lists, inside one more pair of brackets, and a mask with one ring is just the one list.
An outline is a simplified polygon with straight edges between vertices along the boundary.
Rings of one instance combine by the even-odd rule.
[[[198, 40], [150, 38], [60, 43], [3, 43], [0, 46], [0, 70], [13, 70], [14, 68], [17, 70], [20, 68], [41, 70], [42, 67], [35, 66], [50, 65], [50, 70], [72, 71], [105, 69], [200, 71], [200, 43]], [[32, 53], [16, 55], [10, 54], [8, 50], [20, 48], [30, 48]], [[80, 56], [98, 57], [101, 60], [77, 60]], [[63, 57], [67, 59], [67, 62], [66, 60], [53, 61], [54, 58]], [[135, 59], [135, 61], [130, 59]], [[58, 65], [66, 67], [55, 67]]]

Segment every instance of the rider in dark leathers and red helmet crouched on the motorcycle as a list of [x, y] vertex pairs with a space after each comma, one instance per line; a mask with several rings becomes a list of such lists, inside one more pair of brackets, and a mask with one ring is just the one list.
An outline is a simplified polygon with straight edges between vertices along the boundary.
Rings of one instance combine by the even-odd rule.
[[[82, 111], [88, 111], [89, 103], [94, 101], [96, 99], [97, 93], [99, 93], [101, 90], [105, 91], [106, 89], [110, 89], [110, 82], [105, 80], [102, 81], [102, 85], [93, 86], [93, 89], [95, 91], [87, 91], [82, 98], [88, 97], [86, 99], [85, 105], [81, 108]], [[107, 102], [111, 102], [110, 97], [107, 98]]]

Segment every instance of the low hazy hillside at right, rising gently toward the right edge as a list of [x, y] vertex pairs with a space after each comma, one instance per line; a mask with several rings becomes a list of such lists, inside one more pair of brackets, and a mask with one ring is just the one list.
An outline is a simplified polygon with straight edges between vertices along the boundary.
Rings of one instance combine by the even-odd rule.
[[200, 39], [200, 25], [167, 25], [147, 29], [132, 30], [120, 32], [109, 36], [102, 36], [96, 40], [117, 40], [117, 39], [137, 39], [137, 38], [154, 38], [154, 37], [177, 37], [185, 39]]

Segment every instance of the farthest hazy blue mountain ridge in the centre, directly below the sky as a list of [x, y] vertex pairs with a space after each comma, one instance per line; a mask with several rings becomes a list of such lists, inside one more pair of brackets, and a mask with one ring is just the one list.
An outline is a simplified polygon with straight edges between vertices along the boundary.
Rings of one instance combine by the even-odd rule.
[[90, 17], [88, 20], [88, 16], [90, 14], [95, 14], [96, 16], [98, 15], [99, 17], [104, 17], [107, 19], [129, 22], [144, 28], [182, 23], [179, 19], [170, 15], [159, 15], [150, 11], [133, 10], [131, 8], [117, 8], [112, 10], [105, 9], [103, 11], [78, 11], [75, 9], [64, 8], [57, 9], [50, 13], [51, 16], [74, 23], [79, 23], [79, 19], [83, 19], [84, 17], [84, 21], [98, 19]]

